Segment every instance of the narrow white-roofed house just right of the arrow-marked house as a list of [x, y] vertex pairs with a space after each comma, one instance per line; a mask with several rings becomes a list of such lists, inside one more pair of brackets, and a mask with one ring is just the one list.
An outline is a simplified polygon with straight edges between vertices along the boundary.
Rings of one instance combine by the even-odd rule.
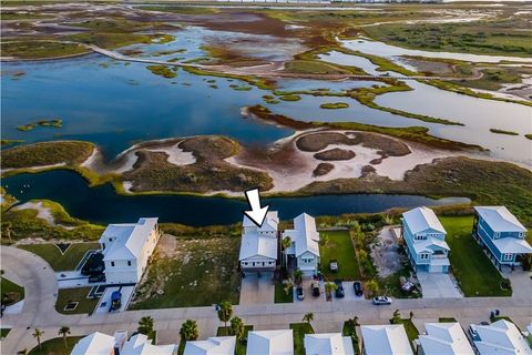
[[283, 240], [291, 245], [285, 250], [287, 258], [295, 258], [296, 266], [305, 276], [315, 276], [319, 264], [319, 233], [313, 216], [301, 213], [294, 219], [294, 230], [286, 230]]

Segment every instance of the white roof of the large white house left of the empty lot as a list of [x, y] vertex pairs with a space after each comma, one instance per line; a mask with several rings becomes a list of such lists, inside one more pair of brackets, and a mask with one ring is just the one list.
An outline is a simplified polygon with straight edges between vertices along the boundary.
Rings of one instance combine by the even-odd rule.
[[140, 219], [137, 223], [108, 225], [100, 237], [100, 243], [106, 243], [108, 237], [113, 237], [114, 241], [104, 250], [104, 260], [141, 257], [142, 250], [156, 224], [157, 219]]

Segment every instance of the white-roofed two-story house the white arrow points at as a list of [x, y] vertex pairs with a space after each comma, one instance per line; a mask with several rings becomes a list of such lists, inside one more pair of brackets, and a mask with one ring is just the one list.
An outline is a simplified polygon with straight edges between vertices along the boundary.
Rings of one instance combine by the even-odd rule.
[[278, 224], [277, 211], [269, 211], [260, 226], [244, 215], [238, 257], [244, 274], [275, 271], [279, 251]]

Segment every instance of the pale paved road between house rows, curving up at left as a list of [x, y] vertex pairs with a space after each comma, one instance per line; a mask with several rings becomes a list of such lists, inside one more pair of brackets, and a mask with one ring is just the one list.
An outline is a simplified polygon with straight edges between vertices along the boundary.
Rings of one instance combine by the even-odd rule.
[[[43, 339], [58, 336], [58, 329], [68, 325], [72, 335], [84, 335], [94, 331], [114, 333], [116, 329], [134, 331], [144, 315], [155, 318], [157, 339], [162, 343], [177, 342], [181, 324], [188, 318], [198, 321], [201, 337], [213, 336], [219, 322], [214, 307], [190, 307], [151, 311], [127, 311], [117, 314], [62, 315], [55, 312], [54, 302], [58, 292], [55, 275], [51, 267], [39, 256], [10, 246], [1, 247], [2, 268], [23, 280], [25, 302], [22, 314], [7, 315], [2, 327], [13, 329], [2, 341], [2, 354], [14, 354], [31, 348], [35, 339], [31, 336], [33, 327], [44, 329]], [[518, 275], [518, 274], [516, 274]], [[386, 324], [392, 312], [398, 308], [402, 314], [415, 313], [418, 324], [436, 321], [440, 316], [456, 317], [463, 325], [485, 321], [489, 312], [499, 308], [502, 314], [513, 318], [519, 325], [532, 321], [532, 280], [521, 274], [516, 278], [513, 297], [483, 298], [431, 298], [396, 300], [391, 306], [372, 306], [369, 301], [315, 303], [239, 305], [235, 314], [243, 317], [256, 329], [287, 328], [289, 323], [300, 322], [307, 312], [315, 314], [315, 328], [318, 332], [338, 332], [344, 321], [358, 315], [365, 324]], [[28, 328], [29, 327], [29, 328]]]

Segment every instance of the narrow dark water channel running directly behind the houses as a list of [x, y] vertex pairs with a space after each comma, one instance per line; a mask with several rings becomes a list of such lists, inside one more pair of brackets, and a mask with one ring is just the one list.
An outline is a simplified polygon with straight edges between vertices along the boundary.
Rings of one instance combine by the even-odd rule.
[[[158, 216], [161, 222], [186, 225], [231, 224], [241, 222], [242, 211], [247, 209], [245, 200], [188, 195], [116, 195], [110, 184], [91, 189], [83, 178], [71, 171], [16, 175], [3, 179], [2, 186], [21, 202], [32, 199], [52, 200], [61, 203], [75, 217], [102, 224], [135, 222], [143, 216]], [[263, 204], [269, 204], [272, 210], [279, 211], [283, 220], [289, 220], [303, 212], [311, 215], [338, 215], [381, 212], [398, 206], [468, 202], [468, 199], [458, 197], [432, 200], [415, 195], [357, 194], [264, 199]]]

